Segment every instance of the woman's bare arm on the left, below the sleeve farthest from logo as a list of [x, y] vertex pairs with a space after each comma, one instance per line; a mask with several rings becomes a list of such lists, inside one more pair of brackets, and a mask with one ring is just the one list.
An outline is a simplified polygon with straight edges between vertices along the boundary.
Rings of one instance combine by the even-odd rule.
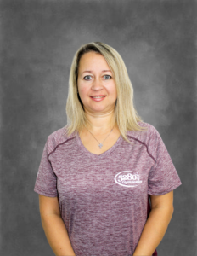
[[71, 247], [65, 223], [60, 216], [57, 197], [39, 195], [42, 227], [56, 256], [76, 256]]

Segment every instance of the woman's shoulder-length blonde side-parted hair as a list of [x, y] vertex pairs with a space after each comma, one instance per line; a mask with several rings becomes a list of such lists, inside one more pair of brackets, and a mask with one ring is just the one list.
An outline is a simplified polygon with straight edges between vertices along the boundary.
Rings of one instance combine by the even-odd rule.
[[68, 124], [65, 126], [67, 136], [76, 131], [82, 131], [88, 119], [84, 112], [80, 96], [77, 94], [77, 78], [79, 61], [82, 55], [94, 51], [104, 56], [115, 79], [117, 100], [115, 104], [115, 121], [121, 136], [128, 142], [127, 131], [144, 131], [145, 127], [138, 125], [142, 119], [138, 116], [133, 105], [133, 88], [127, 73], [127, 67], [121, 55], [108, 44], [93, 42], [84, 44], [74, 55], [69, 78], [69, 92], [66, 102]]

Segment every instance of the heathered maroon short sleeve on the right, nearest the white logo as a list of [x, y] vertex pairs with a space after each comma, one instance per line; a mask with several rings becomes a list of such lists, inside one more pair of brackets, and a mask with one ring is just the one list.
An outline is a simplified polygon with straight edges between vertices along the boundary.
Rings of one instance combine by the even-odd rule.
[[155, 165], [149, 171], [148, 194], [165, 195], [177, 189], [182, 183], [166, 146], [155, 128], [149, 147], [150, 153], [155, 158]]

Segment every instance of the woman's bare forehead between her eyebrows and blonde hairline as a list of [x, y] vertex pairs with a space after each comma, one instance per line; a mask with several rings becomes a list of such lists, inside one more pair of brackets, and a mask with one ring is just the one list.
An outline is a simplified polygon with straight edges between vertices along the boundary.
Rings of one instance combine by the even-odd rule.
[[92, 51], [82, 55], [81, 60], [79, 61], [80, 70], [87, 67], [91, 67], [91, 68], [107, 67], [108, 69], [110, 69], [110, 67], [107, 64], [107, 61], [105, 61], [104, 59], [104, 56]]

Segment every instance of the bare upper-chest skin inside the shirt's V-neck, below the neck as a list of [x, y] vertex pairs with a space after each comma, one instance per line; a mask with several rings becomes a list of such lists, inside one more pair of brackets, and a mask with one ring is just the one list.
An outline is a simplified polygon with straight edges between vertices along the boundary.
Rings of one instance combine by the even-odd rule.
[[[120, 135], [121, 135], [121, 132], [119, 131], [118, 127], [115, 127], [113, 131], [111, 132], [109, 131], [104, 135], [94, 135], [94, 134], [92, 135], [89, 131], [87, 131], [87, 129], [84, 129], [80, 133], [80, 138], [81, 138], [82, 144], [84, 145], [85, 148], [87, 148], [89, 152], [93, 154], [102, 154], [108, 149], [110, 149], [116, 143]], [[103, 144], [102, 148], [99, 148], [98, 142]]]

